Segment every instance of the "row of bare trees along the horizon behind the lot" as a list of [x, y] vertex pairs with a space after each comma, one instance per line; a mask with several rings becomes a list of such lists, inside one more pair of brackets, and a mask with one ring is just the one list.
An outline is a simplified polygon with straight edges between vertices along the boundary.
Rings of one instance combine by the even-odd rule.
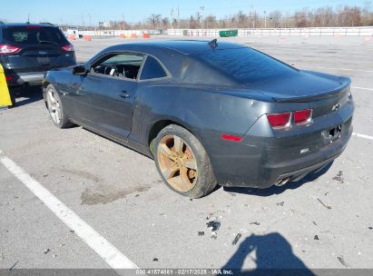
[[[264, 27], [264, 16], [260, 16], [257, 11], [251, 9], [250, 12], [244, 13], [239, 11], [235, 15], [226, 15], [218, 19], [215, 15], [202, 17], [201, 11], [195, 15], [186, 18], [177, 18], [173, 12], [171, 17], [152, 14], [144, 22], [123, 23], [123, 19], [117, 22], [113, 27], [126, 26], [126, 29], [142, 28], [170, 28], [171, 25], [177, 28], [259, 28]], [[203, 22], [202, 22], [203, 21]], [[172, 24], [171, 24], [172, 22]], [[340, 5], [331, 7], [329, 5], [320, 6], [319, 8], [303, 8], [293, 13], [284, 14], [280, 10], [269, 11], [267, 14], [267, 25], [274, 28], [289, 27], [328, 27], [328, 26], [359, 26], [373, 25], [373, 12], [370, 2], [361, 6]]]

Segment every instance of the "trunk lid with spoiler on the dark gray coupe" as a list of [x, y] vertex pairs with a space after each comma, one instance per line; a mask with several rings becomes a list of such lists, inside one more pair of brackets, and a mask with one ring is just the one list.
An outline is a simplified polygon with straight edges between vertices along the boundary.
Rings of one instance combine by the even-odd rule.
[[348, 77], [312, 71], [297, 71], [255, 83], [244, 84], [276, 102], [309, 102], [342, 93], [351, 83]]

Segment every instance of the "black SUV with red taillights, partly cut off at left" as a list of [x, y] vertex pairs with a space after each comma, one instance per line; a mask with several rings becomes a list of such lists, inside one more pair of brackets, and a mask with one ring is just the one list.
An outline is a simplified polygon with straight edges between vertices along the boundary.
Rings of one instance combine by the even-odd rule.
[[76, 64], [74, 47], [52, 24], [0, 22], [0, 63], [8, 86], [40, 85], [44, 72]]

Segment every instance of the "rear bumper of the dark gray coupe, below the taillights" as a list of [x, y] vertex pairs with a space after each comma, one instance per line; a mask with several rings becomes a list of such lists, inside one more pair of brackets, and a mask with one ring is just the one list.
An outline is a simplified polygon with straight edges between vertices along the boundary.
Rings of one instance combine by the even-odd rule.
[[[339, 113], [315, 118], [309, 126], [266, 132], [266, 118], [254, 123], [240, 143], [224, 142], [212, 151], [211, 163], [219, 184], [268, 188], [273, 184], [299, 181], [336, 159], [344, 151], [352, 134], [354, 104], [346, 104]], [[341, 125], [337, 137], [325, 137]]]

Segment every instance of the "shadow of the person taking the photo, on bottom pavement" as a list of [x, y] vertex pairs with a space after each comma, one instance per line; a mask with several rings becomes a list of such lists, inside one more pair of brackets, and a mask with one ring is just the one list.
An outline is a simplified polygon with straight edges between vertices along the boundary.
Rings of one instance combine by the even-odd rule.
[[[254, 251], [256, 258], [249, 256]], [[243, 269], [243, 263], [248, 256], [256, 263], [254, 270]], [[290, 243], [278, 232], [251, 234], [240, 243], [240, 247], [222, 270], [234, 271], [234, 275], [315, 275], [294, 255]]]

